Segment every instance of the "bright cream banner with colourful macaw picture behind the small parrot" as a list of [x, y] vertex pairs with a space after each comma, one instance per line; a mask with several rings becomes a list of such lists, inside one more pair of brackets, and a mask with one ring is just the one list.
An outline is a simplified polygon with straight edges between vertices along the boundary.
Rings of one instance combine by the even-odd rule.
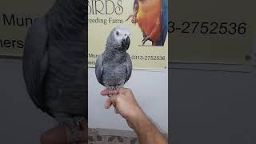
[[89, 67], [110, 45], [107, 39], [117, 26], [129, 31], [126, 52], [134, 69], [167, 69], [168, 0], [88, 0]]

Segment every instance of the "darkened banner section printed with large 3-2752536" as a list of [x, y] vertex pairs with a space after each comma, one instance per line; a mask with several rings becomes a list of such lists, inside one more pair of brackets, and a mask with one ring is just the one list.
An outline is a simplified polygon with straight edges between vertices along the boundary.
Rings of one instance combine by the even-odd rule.
[[170, 3], [170, 62], [245, 64], [252, 59], [254, 1]]

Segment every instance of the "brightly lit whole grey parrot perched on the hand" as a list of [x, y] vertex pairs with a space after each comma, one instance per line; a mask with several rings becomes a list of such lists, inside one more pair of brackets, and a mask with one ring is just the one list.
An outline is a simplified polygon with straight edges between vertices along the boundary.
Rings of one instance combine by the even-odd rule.
[[122, 87], [130, 78], [132, 62], [130, 55], [126, 53], [129, 46], [128, 27], [117, 26], [111, 30], [107, 38], [106, 50], [96, 60], [96, 78], [110, 91]]

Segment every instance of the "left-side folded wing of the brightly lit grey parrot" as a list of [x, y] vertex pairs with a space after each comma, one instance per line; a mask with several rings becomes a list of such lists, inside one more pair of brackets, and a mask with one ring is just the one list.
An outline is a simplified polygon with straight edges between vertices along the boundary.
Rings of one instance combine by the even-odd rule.
[[102, 82], [102, 73], [103, 73], [103, 58], [102, 58], [102, 55], [99, 55], [95, 64], [95, 74], [96, 74], [96, 78], [98, 79], [98, 82], [104, 86]]

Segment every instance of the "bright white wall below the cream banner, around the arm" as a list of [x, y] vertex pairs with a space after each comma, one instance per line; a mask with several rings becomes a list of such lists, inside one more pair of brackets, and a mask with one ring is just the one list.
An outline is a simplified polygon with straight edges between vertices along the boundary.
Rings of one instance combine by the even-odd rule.
[[[94, 68], [88, 71], [89, 85], [89, 126], [114, 130], [130, 130], [126, 121], [104, 108], [106, 99], [100, 95], [104, 87], [95, 76]], [[135, 98], [145, 113], [165, 132], [168, 131], [168, 71], [133, 70], [125, 87], [133, 90]]]

